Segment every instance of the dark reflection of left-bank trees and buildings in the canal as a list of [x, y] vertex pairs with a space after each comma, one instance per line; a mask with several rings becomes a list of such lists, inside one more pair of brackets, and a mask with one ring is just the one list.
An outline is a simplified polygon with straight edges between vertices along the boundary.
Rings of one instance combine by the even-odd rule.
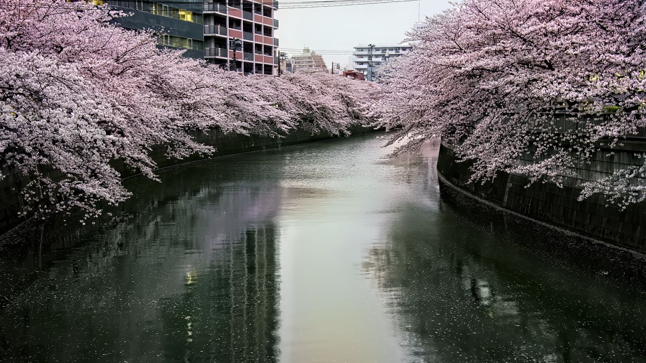
[[0, 360], [275, 362], [282, 191], [207, 169], [140, 185], [107, 227], [48, 235], [41, 273], [16, 248]]

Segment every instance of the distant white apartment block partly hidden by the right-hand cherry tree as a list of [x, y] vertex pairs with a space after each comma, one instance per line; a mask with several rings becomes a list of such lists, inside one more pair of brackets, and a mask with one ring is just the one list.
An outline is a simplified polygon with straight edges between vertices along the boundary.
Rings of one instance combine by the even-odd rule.
[[402, 56], [411, 50], [410, 45], [357, 45], [352, 53], [352, 67], [366, 75], [368, 81], [377, 81], [375, 70], [390, 59]]

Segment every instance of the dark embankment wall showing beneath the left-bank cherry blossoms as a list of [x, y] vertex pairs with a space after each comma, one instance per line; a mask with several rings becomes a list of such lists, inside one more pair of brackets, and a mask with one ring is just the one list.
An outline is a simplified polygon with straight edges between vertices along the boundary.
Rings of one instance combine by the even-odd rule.
[[[359, 135], [373, 132], [373, 130], [356, 125], [350, 128], [350, 132], [351, 135]], [[216, 158], [218, 156], [273, 149], [276, 147], [329, 140], [339, 137], [328, 134], [327, 132], [312, 134], [305, 130], [295, 130], [284, 138], [271, 138], [268, 136], [258, 135], [245, 136], [242, 134], [224, 134], [224, 132], [221, 132], [220, 130], [212, 130], [209, 134], [196, 132], [194, 136], [195, 141], [216, 147], [216, 152], [205, 156], [193, 155], [182, 160], [169, 159], [165, 156], [166, 147], [159, 145], [158, 147], [154, 147], [150, 153], [152, 159], [157, 163], [158, 168], [161, 169], [191, 161]], [[116, 162], [114, 163], [114, 166], [121, 172], [121, 176], [123, 178], [139, 174], [137, 171], [127, 169], [123, 163]], [[28, 182], [25, 178], [19, 178], [16, 174], [12, 174], [7, 171], [3, 171], [3, 174], [5, 174], [6, 177], [3, 180], [0, 180], [0, 234], [8, 231], [8, 229], [25, 220], [25, 218], [19, 218], [18, 212], [21, 211], [23, 205], [23, 200], [20, 194], [21, 187]], [[50, 172], [48, 174], [54, 179], [62, 176], [59, 172]]]

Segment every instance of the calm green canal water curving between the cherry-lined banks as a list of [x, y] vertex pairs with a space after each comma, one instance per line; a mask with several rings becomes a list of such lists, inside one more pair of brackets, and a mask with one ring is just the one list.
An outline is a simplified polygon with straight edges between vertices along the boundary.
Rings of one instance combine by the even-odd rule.
[[643, 259], [380, 137], [167, 169], [96, 225], [12, 231], [0, 361], [646, 362]]

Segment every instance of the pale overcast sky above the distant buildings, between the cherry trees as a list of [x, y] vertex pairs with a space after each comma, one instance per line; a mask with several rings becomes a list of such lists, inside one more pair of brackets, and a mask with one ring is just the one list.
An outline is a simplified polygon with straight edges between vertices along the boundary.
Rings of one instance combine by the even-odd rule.
[[326, 64], [348, 63], [352, 47], [369, 43], [400, 43], [413, 23], [417, 22], [417, 8], [420, 19], [437, 14], [448, 8], [448, 0], [420, 0], [407, 3], [374, 5], [337, 6], [330, 8], [281, 9], [280, 5], [300, 0], [278, 0], [279, 27], [276, 37], [278, 48], [287, 54], [298, 53], [287, 48], [311, 50], [336, 50], [348, 54], [325, 54], [320, 52]]

